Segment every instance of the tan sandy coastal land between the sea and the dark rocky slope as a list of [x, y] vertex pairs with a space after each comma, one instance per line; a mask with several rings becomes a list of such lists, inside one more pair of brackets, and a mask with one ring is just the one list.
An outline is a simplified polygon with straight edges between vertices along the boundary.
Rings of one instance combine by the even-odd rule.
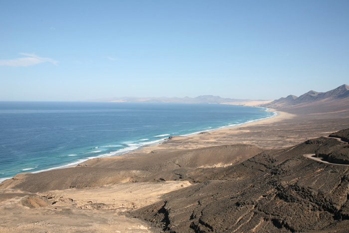
[[[224, 169], [263, 150], [288, 148], [344, 128], [349, 128], [348, 118], [335, 114], [278, 111], [269, 119], [177, 136], [77, 167], [18, 174], [0, 184], [0, 231], [158, 232], [126, 213], [174, 190], [221, 179], [220, 171], [225, 174]], [[208, 175], [212, 172], [217, 175]]]

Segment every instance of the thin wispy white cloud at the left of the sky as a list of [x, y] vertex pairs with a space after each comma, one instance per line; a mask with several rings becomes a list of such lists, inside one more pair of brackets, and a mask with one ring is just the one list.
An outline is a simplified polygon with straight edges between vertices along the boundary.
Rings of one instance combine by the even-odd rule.
[[0, 65], [7, 65], [7, 66], [29, 66], [29, 65], [36, 65], [43, 62], [51, 62], [55, 65], [57, 65], [58, 61], [55, 61], [51, 58], [47, 57], [39, 57], [35, 54], [30, 53], [24, 53], [20, 52], [18, 53], [20, 55], [24, 55], [27, 57], [20, 57], [16, 59], [9, 59], [9, 60], [0, 60]]

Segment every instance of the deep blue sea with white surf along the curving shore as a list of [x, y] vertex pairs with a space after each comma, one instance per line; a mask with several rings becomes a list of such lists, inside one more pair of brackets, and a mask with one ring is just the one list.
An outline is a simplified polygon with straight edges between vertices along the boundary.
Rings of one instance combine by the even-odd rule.
[[0, 182], [22, 172], [117, 156], [172, 135], [275, 115], [220, 104], [0, 102]]

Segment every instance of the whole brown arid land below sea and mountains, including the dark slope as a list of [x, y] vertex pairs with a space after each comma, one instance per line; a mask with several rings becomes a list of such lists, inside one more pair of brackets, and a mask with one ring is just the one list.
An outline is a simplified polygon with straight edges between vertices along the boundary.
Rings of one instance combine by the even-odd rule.
[[349, 232], [346, 98], [18, 174], [0, 184], [0, 232]]

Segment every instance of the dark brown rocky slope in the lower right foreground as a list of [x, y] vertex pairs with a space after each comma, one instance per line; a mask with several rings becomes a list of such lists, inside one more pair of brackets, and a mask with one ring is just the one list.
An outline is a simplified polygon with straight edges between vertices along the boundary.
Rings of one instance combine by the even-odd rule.
[[205, 170], [210, 180], [130, 214], [164, 232], [349, 232], [349, 166], [303, 157], [347, 155], [346, 145], [318, 138]]

